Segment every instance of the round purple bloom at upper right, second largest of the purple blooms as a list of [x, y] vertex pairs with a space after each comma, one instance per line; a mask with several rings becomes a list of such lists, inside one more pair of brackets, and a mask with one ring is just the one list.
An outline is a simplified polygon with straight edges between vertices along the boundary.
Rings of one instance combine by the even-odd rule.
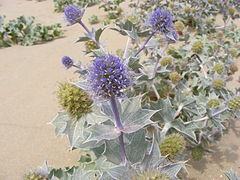
[[174, 25], [171, 13], [165, 9], [159, 8], [151, 13], [148, 21], [153, 30], [160, 31], [162, 33], [168, 33]]

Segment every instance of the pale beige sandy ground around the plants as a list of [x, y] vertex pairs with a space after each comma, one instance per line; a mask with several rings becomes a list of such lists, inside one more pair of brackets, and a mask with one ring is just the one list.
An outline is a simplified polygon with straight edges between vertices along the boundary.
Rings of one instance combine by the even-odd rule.
[[[83, 20], [97, 14], [97, 7], [86, 11]], [[68, 151], [65, 138], [56, 138], [51, 121], [59, 110], [55, 98], [58, 82], [73, 78], [60, 63], [64, 55], [87, 62], [81, 43], [74, 43], [83, 30], [78, 25], [67, 27], [63, 15], [53, 12], [53, 1], [0, 0], [0, 15], [13, 19], [20, 15], [35, 16], [43, 24], [60, 22], [65, 36], [45, 44], [0, 49], [0, 180], [20, 180], [23, 174], [48, 160], [56, 167], [71, 166], [79, 152]], [[107, 30], [102, 36], [106, 48], [114, 52], [124, 48], [126, 38]], [[240, 62], [238, 62], [240, 65]], [[240, 67], [240, 66], [239, 66]], [[237, 77], [236, 77], [237, 78]], [[235, 79], [236, 79], [235, 78]], [[239, 84], [232, 83], [239, 87]], [[225, 170], [240, 166], [240, 122], [233, 121], [231, 129], [207, 155], [188, 168], [189, 180], [217, 180]], [[240, 172], [239, 172], [240, 175]], [[194, 178], [193, 178], [194, 177]]]

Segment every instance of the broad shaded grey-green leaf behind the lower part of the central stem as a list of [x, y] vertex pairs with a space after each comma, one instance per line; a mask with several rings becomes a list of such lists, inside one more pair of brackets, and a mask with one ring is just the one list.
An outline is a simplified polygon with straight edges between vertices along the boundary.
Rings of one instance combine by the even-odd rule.
[[[117, 141], [106, 141], [105, 143], [106, 149], [104, 155], [107, 157], [108, 161], [120, 164], [121, 159], [119, 156], [119, 143]], [[143, 160], [148, 147], [148, 143], [145, 140], [144, 130], [124, 135], [124, 144], [127, 159], [132, 164]]]

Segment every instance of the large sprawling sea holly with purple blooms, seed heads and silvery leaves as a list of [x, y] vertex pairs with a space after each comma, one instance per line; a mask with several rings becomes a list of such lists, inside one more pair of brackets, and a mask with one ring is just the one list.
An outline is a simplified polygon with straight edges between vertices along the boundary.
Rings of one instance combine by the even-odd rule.
[[235, 46], [215, 34], [208, 40], [206, 32], [176, 47], [184, 24], [156, 8], [144, 26], [127, 20], [112, 28], [128, 37], [118, 57], [100, 42], [106, 28], [84, 24], [84, 11], [71, 5], [64, 14], [86, 31], [77, 42], [92, 60], [83, 66], [62, 58], [81, 80], [59, 85], [63, 111], [52, 121], [56, 135], [66, 135], [82, 156], [79, 166], [50, 168], [48, 178], [178, 179], [186, 146], [211, 151], [208, 144], [223, 134], [225, 122], [239, 115], [239, 96], [225, 86], [237, 71]]

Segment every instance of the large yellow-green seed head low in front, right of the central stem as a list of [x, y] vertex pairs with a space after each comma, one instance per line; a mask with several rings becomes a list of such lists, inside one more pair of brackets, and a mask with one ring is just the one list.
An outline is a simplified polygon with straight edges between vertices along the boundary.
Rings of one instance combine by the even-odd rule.
[[166, 136], [159, 145], [161, 154], [168, 155], [169, 160], [173, 160], [177, 155], [181, 154], [186, 147], [186, 141], [180, 134], [171, 134]]

